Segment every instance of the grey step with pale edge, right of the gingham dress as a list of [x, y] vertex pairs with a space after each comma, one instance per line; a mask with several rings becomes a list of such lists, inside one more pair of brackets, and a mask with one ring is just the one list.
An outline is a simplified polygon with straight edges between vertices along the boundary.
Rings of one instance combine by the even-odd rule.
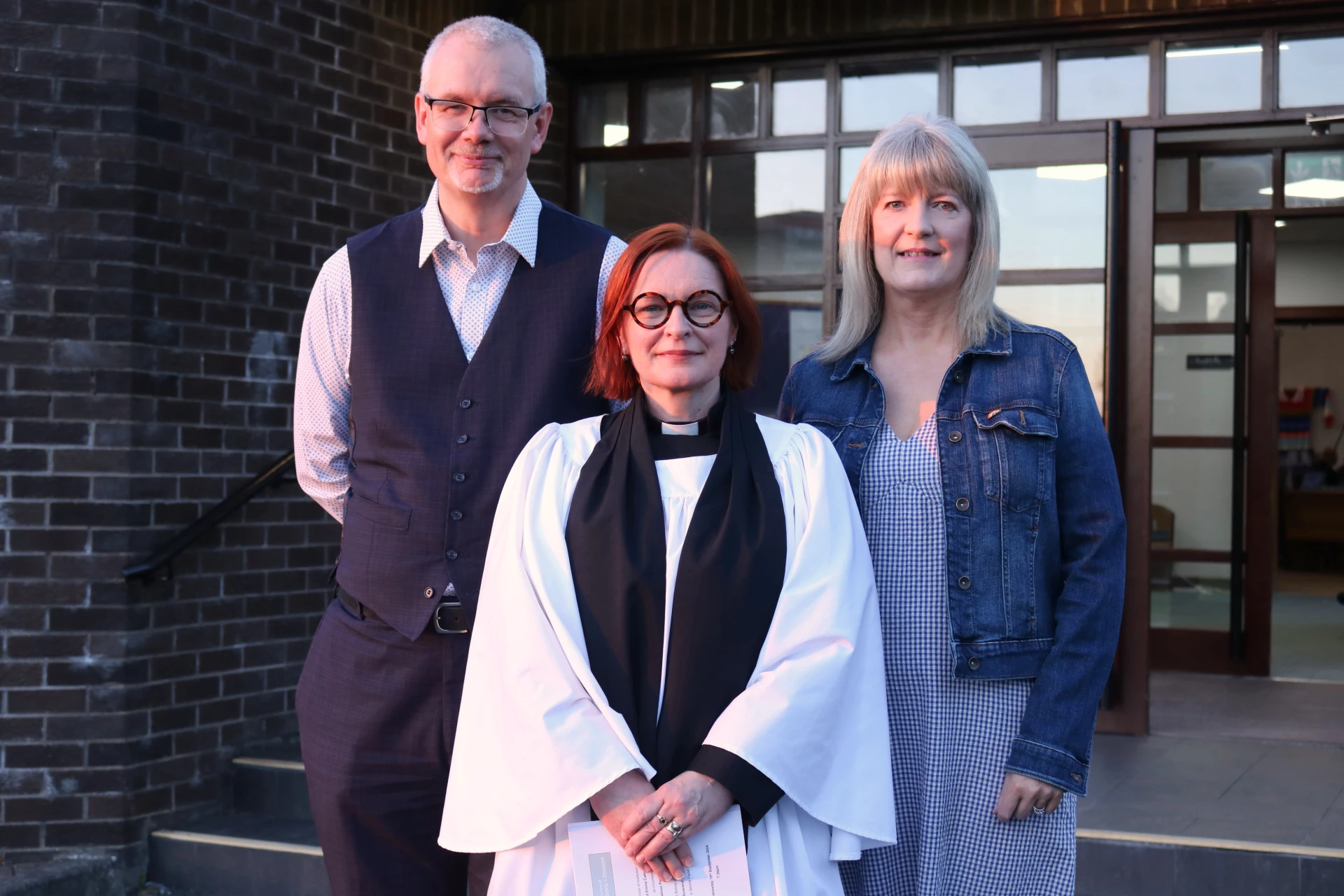
[[1078, 830], [1078, 896], [1339, 896], [1344, 849]]

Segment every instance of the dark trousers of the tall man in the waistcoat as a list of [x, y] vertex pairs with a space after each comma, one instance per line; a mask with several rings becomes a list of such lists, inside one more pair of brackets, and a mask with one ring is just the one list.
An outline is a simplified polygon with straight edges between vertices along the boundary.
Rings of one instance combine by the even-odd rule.
[[468, 643], [327, 609], [297, 709], [335, 896], [466, 896], [469, 857], [442, 849], [438, 827]]

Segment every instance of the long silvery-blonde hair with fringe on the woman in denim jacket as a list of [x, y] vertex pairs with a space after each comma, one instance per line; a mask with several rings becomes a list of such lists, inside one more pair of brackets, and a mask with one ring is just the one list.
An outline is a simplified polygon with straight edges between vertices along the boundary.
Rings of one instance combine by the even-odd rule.
[[977, 345], [1005, 326], [995, 306], [999, 281], [999, 203], [984, 156], [970, 136], [942, 116], [907, 116], [872, 141], [859, 164], [840, 219], [843, 294], [836, 330], [818, 352], [837, 361], [882, 322], [882, 278], [872, 261], [872, 210], [891, 189], [954, 191], [965, 200], [973, 227], [970, 259], [957, 296], [961, 348]]

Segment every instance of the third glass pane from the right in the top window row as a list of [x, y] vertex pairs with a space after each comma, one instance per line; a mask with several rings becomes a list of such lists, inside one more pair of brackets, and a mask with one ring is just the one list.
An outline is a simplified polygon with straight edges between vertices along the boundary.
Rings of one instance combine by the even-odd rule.
[[1148, 114], [1148, 47], [1062, 50], [1055, 71], [1060, 121]]

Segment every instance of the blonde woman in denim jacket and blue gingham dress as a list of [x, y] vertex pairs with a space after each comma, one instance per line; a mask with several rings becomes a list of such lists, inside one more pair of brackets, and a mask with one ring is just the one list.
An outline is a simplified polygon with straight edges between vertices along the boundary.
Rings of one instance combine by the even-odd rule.
[[1083, 364], [995, 308], [999, 211], [952, 121], [878, 136], [840, 239], [836, 332], [780, 416], [835, 443], [878, 580], [899, 840], [847, 865], [845, 889], [1073, 893], [1125, 578]]

